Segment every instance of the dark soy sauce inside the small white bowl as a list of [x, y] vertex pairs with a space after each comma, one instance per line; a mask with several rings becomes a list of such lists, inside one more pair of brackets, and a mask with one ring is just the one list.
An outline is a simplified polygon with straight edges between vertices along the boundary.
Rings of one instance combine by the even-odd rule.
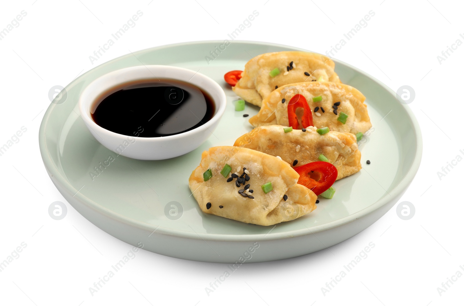
[[[162, 137], [193, 130], [214, 115], [201, 88], [171, 79], [134, 81], [100, 96], [92, 119], [104, 129], [135, 137]], [[96, 104], [97, 104], [96, 103]]]

